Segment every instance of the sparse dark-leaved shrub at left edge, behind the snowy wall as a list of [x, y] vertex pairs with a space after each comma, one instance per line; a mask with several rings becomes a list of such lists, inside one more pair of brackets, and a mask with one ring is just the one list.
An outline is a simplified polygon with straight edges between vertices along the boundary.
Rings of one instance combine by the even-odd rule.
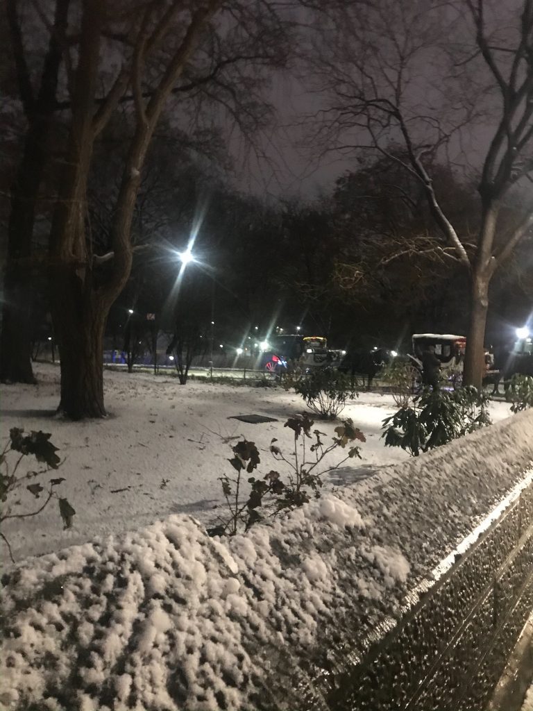
[[[64, 477], [60, 476], [56, 479], [50, 479], [48, 482], [48, 490], [46, 490], [41, 483], [35, 481], [38, 476], [46, 474], [50, 469], [58, 469], [60, 459], [58, 455], [55, 454], [56, 451], [58, 451], [58, 448], [50, 442], [50, 434], [46, 432], [31, 432], [25, 435], [24, 430], [18, 429], [18, 427], [14, 427], [9, 431], [9, 442], [6, 444], [6, 447], [4, 447], [4, 451], [0, 454], [0, 502], [3, 505], [0, 513], [0, 527], [4, 521], [10, 518], [22, 519], [38, 515], [45, 506], [48, 506], [50, 499], [55, 498], [58, 501], [59, 513], [63, 519], [64, 528], [70, 528], [70, 525], [72, 525], [72, 516], [75, 515], [76, 512], [72, 506], [70, 506], [66, 498], [60, 498], [58, 494], [55, 493], [55, 487], [65, 481]], [[11, 468], [10, 459], [15, 459], [14, 456], [11, 456], [12, 452], [18, 452], [20, 456], [16, 457], [16, 461]], [[26, 456], [34, 456], [38, 462], [42, 462], [46, 465], [45, 469], [18, 474], [19, 466]], [[31, 480], [33, 480], [33, 483], [26, 483]], [[36, 510], [29, 512], [17, 511], [13, 513], [14, 506], [21, 506], [21, 501], [13, 501], [13, 498], [14, 496], [20, 495], [25, 483], [26, 490], [29, 491], [32, 496], [35, 496], [35, 498], [41, 498], [41, 493], [45, 492], [44, 501]], [[9, 550], [9, 557], [15, 562], [9, 540], [7, 540], [1, 530], [0, 538], [6, 543], [7, 549]]]

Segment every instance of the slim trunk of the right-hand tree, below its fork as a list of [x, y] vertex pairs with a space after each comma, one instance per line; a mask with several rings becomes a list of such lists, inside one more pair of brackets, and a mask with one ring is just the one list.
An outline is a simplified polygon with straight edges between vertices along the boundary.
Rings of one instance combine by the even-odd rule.
[[470, 322], [466, 336], [463, 385], [474, 385], [481, 390], [485, 370], [485, 326], [488, 312], [490, 276], [474, 274], [470, 296]]

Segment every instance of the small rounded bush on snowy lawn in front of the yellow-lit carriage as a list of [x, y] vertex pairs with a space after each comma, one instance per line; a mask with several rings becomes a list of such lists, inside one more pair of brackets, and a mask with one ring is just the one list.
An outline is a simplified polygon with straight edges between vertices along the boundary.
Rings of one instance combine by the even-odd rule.
[[294, 390], [318, 417], [335, 419], [346, 401], [357, 397], [350, 378], [334, 368], [314, 368], [305, 378], [298, 378]]

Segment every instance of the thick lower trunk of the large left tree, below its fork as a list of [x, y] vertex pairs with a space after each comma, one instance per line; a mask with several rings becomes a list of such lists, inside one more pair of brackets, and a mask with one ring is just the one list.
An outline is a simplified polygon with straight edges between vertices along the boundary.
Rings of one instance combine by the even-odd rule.
[[50, 291], [61, 361], [58, 412], [70, 419], [105, 417], [102, 359], [109, 306], [70, 270], [55, 270]]

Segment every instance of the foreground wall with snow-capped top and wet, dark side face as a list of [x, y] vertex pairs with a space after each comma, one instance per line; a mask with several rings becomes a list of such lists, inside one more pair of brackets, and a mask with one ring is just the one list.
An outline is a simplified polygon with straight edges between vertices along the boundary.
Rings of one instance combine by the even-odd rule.
[[[532, 460], [525, 412], [244, 537], [175, 515], [27, 560], [2, 579], [0, 708], [477, 708], [533, 607]], [[483, 626], [507, 647], [477, 692], [450, 660]]]

